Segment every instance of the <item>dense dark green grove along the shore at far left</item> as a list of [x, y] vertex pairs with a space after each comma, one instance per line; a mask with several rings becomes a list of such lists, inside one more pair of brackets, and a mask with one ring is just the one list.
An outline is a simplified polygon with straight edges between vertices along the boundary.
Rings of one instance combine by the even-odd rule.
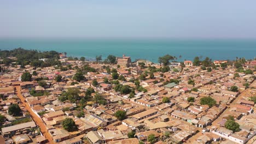
[[[44, 51], [37, 50], [25, 50], [21, 47], [14, 50], [0, 50], [0, 57], [3, 59], [1, 64], [9, 65], [16, 62], [17, 65], [24, 67], [27, 64], [33, 67], [50, 67], [53, 65], [61, 65], [59, 59], [59, 52], [56, 51]], [[15, 59], [9, 57], [16, 57]], [[48, 58], [45, 61], [40, 61], [41, 58]]]

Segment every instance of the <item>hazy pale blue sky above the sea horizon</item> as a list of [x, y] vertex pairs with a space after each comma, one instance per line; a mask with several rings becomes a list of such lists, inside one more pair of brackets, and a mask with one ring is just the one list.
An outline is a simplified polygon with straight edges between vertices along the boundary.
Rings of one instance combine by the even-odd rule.
[[255, 0], [0, 0], [0, 38], [256, 39]]

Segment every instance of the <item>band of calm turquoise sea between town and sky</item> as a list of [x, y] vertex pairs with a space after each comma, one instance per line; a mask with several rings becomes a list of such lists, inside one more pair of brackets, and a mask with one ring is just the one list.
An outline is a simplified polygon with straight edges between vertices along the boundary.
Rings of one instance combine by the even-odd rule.
[[[181, 60], [193, 60], [195, 56], [214, 59], [236, 59], [256, 57], [256, 40], [64, 40], [64, 39], [0, 39], [0, 49], [12, 50], [17, 47], [40, 51], [55, 50], [67, 52], [68, 56], [95, 58], [102, 55], [146, 58], [157, 62], [166, 54], [182, 56]], [[203, 59], [202, 58], [202, 59]]]

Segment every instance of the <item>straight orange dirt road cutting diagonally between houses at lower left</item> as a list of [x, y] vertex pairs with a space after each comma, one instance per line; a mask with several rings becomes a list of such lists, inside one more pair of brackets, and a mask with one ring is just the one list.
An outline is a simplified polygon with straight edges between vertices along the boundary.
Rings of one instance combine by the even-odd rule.
[[36, 124], [40, 127], [40, 130], [41, 130], [42, 134], [45, 136], [45, 138], [49, 141], [50, 144], [55, 143], [53, 141], [53, 139], [51, 138], [51, 135], [48, 133], [48, 131], [47, 131], [43, 121], [31, 110], [30, 106], [25, 101], [25, 98], [21, 95], [20, 86], [15, 86], [15, 88], [16, 88], [16, 94], [20, 98], [20, 100], [22, 102], [22, 105], [30, 113], [30, 115], [31, 115], [32, 119], [34, 120], [34, 122], [36, 122]]

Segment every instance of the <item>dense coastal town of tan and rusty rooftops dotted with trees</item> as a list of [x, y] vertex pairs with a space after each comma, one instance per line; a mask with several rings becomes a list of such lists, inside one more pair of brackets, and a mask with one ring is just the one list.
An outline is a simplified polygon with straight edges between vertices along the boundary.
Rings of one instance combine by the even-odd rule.
[[[15, 61], [18, 54], [5, 55], [0, 59], [5, 142], [228, 144], [255, 139], [255, 60], [196, 57], [180, 63], [166, 55], [154, 64], [110, 55], [88, 62], [63, 53], [56, 65], [43, 67], [31, 65], [35, 61], [22, 65]], [[13, 60], [4, 63], [7, 58]]]

